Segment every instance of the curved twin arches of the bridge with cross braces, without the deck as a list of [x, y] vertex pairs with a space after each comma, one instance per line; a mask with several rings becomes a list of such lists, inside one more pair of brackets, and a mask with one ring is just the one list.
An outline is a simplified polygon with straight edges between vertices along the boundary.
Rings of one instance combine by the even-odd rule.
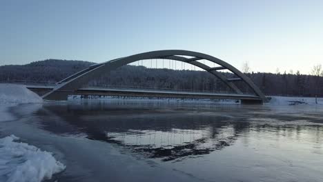
[[[81, 70], [80, 72], [72, 74], [70, 77], [63, 79], [62, 81], [59, 81], [52, 91], [43, 95], [43, 99], [66, 100], [68, 98], [68, 94], [76, 90], [79, 90], [86, 83], [88, 83], [92, 79], [99, 77], [101, 74], [106, 74], [107, 72], [115, 70], [123, 65], [146, 59], [170, 59], [195, 65], [213, 74], [215, 77], [217, 77], [226, 85], [228, 85], [228, 87], [234, 90], [237, 94], [242, 94], [242, 91], [239, 90], [239, 88], [237, 88], [237, 86], [235, 85], [235, 81], [244, 81], [244, 83], [246, 83], [251, 88], [251, 90], [253, 90], [255, 95], [259, 97], [259, 99], [262, 102], [268, 102], [265, 95], [255, 85], [255, 83], [253, 83], [251, 79], [246, 77], [244, 73], [240, 72], [239, 70], [237, 70], [237, 68], [233, 67], [233, 65], [226, 63], [221, 59], [217, 59], [216, 57], [212, 57], [211, 55], [188, 50], [157, 50], [152, 52], [144, 52], [92, 65], [89, 68], [86, 68], [85, 70]], [[208, 65], [201, 63], [199, 60], [208, 60], [213, 63], [216, 63], [219, 66], [211, 68]], [[228, 79], [224, 77], [223, 74], [218, 72], [219, 70], [230, 70], [231, 72], [233, 72], [233, 74], [235, 74], [236, 78]]]

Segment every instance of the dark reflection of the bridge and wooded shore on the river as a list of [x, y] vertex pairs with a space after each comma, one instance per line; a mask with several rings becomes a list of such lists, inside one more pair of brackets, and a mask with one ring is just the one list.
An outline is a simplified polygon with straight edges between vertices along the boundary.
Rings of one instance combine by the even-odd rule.
[[[250, 134], [253, 137], [257, 134], [277, 136], [277, 140], [284, 140], [282, 136], [300, 141], [310, 139], [314, 140], [311, 143], [317, 143], [315, 150], [321, 151], [323, 127], [320, 117], [300, 117], [295, 113], [288, 116], [293, 123], [282, 125], [282, 119], [288, 122], [287, 117], [273, 114], [275, 110], [266, 107], [162, 103], [155, 106], [103, 102], [46, 104], [37, 115], [43, 116], [39, 121], [43, 129], [50, 132], [112, 143], [121, 150], [161, 161], [204, 156], [234, 145], [237, 140], [248, 143]], [[317, 124], [304, 123], [306, 119]]]

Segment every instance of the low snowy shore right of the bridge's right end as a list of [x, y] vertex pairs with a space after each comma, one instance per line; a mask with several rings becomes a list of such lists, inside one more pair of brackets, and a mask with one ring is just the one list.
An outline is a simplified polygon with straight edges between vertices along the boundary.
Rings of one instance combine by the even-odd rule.
[[[300, 105], [300, 104], [310, 104], [314, 105], [314, 97], [271, 97], [271, 105]], [[317, 104], [323, 104], [323, 98], [317, 98]]]

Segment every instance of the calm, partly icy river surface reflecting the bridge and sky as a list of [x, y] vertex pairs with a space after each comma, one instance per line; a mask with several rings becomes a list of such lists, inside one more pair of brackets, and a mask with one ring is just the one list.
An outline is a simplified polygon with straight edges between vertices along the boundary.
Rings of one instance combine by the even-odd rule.
[[323, 107], [21, 104], [0, 136], [52, 152], [49, 181], [323, 181]]

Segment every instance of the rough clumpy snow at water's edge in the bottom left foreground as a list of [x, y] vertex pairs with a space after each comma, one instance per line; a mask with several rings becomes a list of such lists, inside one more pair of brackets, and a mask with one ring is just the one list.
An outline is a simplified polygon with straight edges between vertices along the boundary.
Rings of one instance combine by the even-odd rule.
[[41, 181], [66, 168], [50, 152], [18, 139], [14, 135], [0, 139], [0, 181]]

